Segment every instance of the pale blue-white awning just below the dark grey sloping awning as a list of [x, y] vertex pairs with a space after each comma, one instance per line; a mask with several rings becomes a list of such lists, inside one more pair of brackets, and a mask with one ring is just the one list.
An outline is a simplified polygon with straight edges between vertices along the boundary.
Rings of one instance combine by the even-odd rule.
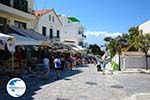
[[15, 38], [16, 40], [15, 45], [42, 45], [41, 41], [37, 41], [32, 38], [23, 37], [15, 33], [10, 33], [9, 35]]

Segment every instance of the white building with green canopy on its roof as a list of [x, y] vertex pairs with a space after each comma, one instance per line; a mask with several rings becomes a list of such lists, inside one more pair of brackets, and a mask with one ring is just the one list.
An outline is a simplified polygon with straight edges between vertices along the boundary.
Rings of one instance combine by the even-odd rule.
[[80, 21], [75, 17], [67, 17], [59, 15], [59, 18], [63, 24], [60, 41], [64, 44], [73, 44], [83, 46], [83, 40], [85, 39], [84, 27]]

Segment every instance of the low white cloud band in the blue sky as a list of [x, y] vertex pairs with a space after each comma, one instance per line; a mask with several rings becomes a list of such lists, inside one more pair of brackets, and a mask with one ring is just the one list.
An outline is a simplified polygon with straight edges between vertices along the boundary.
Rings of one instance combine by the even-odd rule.
[[116, 32], [116, 33], [109, 33], [109, 32], [96, 32], [96, 31], [86, 31], [85, 35], [89, 36], [96, 36], [96, 37], [117, 37], [118, 35], [121, 35], [122, 33]]

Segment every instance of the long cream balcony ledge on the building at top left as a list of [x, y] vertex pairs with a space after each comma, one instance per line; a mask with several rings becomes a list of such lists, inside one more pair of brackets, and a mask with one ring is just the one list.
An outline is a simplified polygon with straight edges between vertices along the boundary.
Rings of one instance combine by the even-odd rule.
[[[29, 9], [29, 11], [31, 11], [31, 9]], [[0, 3], [0, 12], [2, 14], [7, 14], [7, 15], [10, 15], [12, 17], [23, 18], [23, 19], [26, 19], [26, 20], [29, 20], [29, 21], [35, 20], [35, 18], [36, 18], [31, 13], [15, 9], [11, 6], [8, 6], [8, 5], [5, 5], [5, 4], [2, 4], [2, 3]]]

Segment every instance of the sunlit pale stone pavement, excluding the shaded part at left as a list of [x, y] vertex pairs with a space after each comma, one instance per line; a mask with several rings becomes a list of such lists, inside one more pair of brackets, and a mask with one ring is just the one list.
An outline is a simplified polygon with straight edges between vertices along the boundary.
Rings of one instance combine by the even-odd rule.
[[[35, 100], [129, 100], [136, 92], [150, 93], [149, 75], [146, 76], [148, 80], [140, 84], [136, 84], [138, 80], [136, 78], [139, 77], [135, 75], [133, 77], [135, 82], [133, 83], [137, 85], [136, 87], [136, 85], [129, 85], [132, 83], [130, 78], [126, 83], [128, 76], [121, 75], [122, 77], [117, 77], [119, 74], [102, 75], [102, 73], [96, 71], [96, 67], [93, 65], [90, 65], [90, 67], [78, 67], [74, 70], [76, 69], [80, 70], [81, 73], [42, 86], [39, 91], [36, 91], [33, 98]], [[119, 79], [123, 77], [125, 77], [125, 80], [120, 81]], [[142, 85], [146, 85], [146, 87], [139, 87]]]

